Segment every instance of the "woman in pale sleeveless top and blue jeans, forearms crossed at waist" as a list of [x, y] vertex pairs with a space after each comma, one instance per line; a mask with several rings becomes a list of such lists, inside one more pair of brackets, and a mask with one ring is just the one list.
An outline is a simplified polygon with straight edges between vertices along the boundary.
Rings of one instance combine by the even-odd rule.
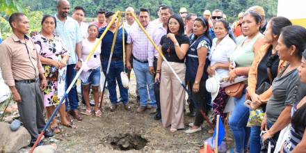
[[[237, 42], [236, 49], [230, 56], [230, 72], [228, 81], [234, 81], [237, 76], [248, 76], [248, 71], [252, 65], [255, 51], [261, 46], [262, 34], [259, 32], [261, 17], [252, 11], [247, 11], [243, 15], [242, 31], [244, 38]], [[236, 67], [234, 67], [236, 66]], [[230, 128], [234, 136], [235, 152], [245, 152], [248, 148], [250, 137], [250, 127], [246, 127], [249, 117], [249, 108], [244, 106], [245, 89], [239, 98], [235, 98], [236, 106], [230, 117]]]

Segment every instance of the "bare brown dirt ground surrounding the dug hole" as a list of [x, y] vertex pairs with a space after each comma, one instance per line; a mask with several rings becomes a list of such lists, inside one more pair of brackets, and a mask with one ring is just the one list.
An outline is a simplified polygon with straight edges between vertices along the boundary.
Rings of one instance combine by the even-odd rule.
[[[150, 110], [141, 114], [136, 113], [138, 104], [135, 88], [136, 81], [132, 75], [129, 83], [131, 111], [125, 111], [122, 104], [116, 111], [109, 111], [110, 102], [106, 94], [101, 118], [94, 115], [82, 115], [83, 121], [74, 120], [76, 129], [60, 126], [61, 133], [53, 138], [45, 138], [45, 143], [56, 143], [56, 152], [198, 152], [202, 140], [211, 136], [207, 132], [209, 130], [207, 123], [204, 123], [202, 131], [195, 134], [185, 134], [184, 130], [172, 134], [169, 128], [163, 128], [160, 121], [153, 119], [154, 115], [150, 114]], [[80, 103], [79, 107], [81, 112], [85, 112], [83, 104]], [[194, 118], [184, 115], [186, 129], [188, 123], [193, 120]], [[131, 138], [136, 135], [137, 138]], [[118, 139], [124, 136], [123, 140]], [[130, 142], [128, 138], [131, 139]], [[146, 144], [145, 141], [147, 141]], [[121, 144], [121, 149], [130, 149], [129, 147], [134, 146], [138, 150], [123, 151], [120, 147], [113, 147], [115, 143]], [[20, 152], [26, 152], [26, 150], [29, 150], [29, 147]]]

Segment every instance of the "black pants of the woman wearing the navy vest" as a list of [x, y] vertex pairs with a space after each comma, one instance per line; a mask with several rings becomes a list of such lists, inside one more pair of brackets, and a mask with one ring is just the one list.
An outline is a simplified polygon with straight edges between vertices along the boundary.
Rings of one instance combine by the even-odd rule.
[[191, 95], [195, 105], [195, 126], [200, 127], [204, 122], [204, 118], [200, 110], [204, 113], [208, 113], [209, 109], [207, 108], [207, 100], [210, 99], [209, 92], [207, 92], [205, 87], [205, 81], [200, 81], [199, 92], [193, 92], [192, 87], [194, 82], [189, 82], [191, 87]]

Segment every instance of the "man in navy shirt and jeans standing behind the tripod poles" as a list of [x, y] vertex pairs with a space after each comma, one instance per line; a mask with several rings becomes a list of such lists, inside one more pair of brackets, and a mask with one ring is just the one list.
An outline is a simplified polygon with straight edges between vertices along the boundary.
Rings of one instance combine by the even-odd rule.
[[[113, 19], [115, 13], [108, 12], [105, 14], [106, 22], [109, 24], [111, 19]], [[115, 35], [115, 29], [117, 25], [117, 17], [115, 17], [115, 22], [111, 25], [111, 27], [106, 32], [106, 35], [102, 39], [101, 45], [101, 64], [102, 70], [106, 75], [106, 70], [108, 66], [108, 59], [111, 56], [111, 45], [113, 44], [113, 37]], [[99, 36], [105, 31], [105, 28], [99, 29]], [[111, 65], [109, 67], [108, 77], [107, 79], [107, 89], [109, 92], [109, 99], [111, 100], [111, 111], [115, 111], [117, 108], [117, 93], [116, 93], [116, 81], [118, 82], [120, 96], [122, 98], [122, 102], [124, 104], [124, 108], [128, 111], [131, 110], [129, 106], [129, 97], [128, 90], [122, 86], [122, 81], [120, 78], [120, 73], [124, 71], [123, 65], [123, 45], [122, 45], [122, 34], [124, 33], [124, 43], [127, 43], [127, 31], [122, 31], [122, 29], [118, 29], [117, 38], [115, 41], [115, 47], [113, 50], [113, 56], [111, 58]]]

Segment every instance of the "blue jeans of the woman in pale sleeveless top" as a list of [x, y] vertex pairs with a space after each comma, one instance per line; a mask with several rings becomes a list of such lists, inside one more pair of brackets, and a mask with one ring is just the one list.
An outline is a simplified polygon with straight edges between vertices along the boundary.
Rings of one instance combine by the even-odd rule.
[[243, 90], [243, 95], [239, 99], [234, 98], [234, 102], [236, 106], [230, 117], [229, 124], [234, 136], [236, 152], [240, 153], [248, 148], [250, 137], [250, 127], [246, 127], [250, 111], [248, 107], [244, 106], [245, 90]]

